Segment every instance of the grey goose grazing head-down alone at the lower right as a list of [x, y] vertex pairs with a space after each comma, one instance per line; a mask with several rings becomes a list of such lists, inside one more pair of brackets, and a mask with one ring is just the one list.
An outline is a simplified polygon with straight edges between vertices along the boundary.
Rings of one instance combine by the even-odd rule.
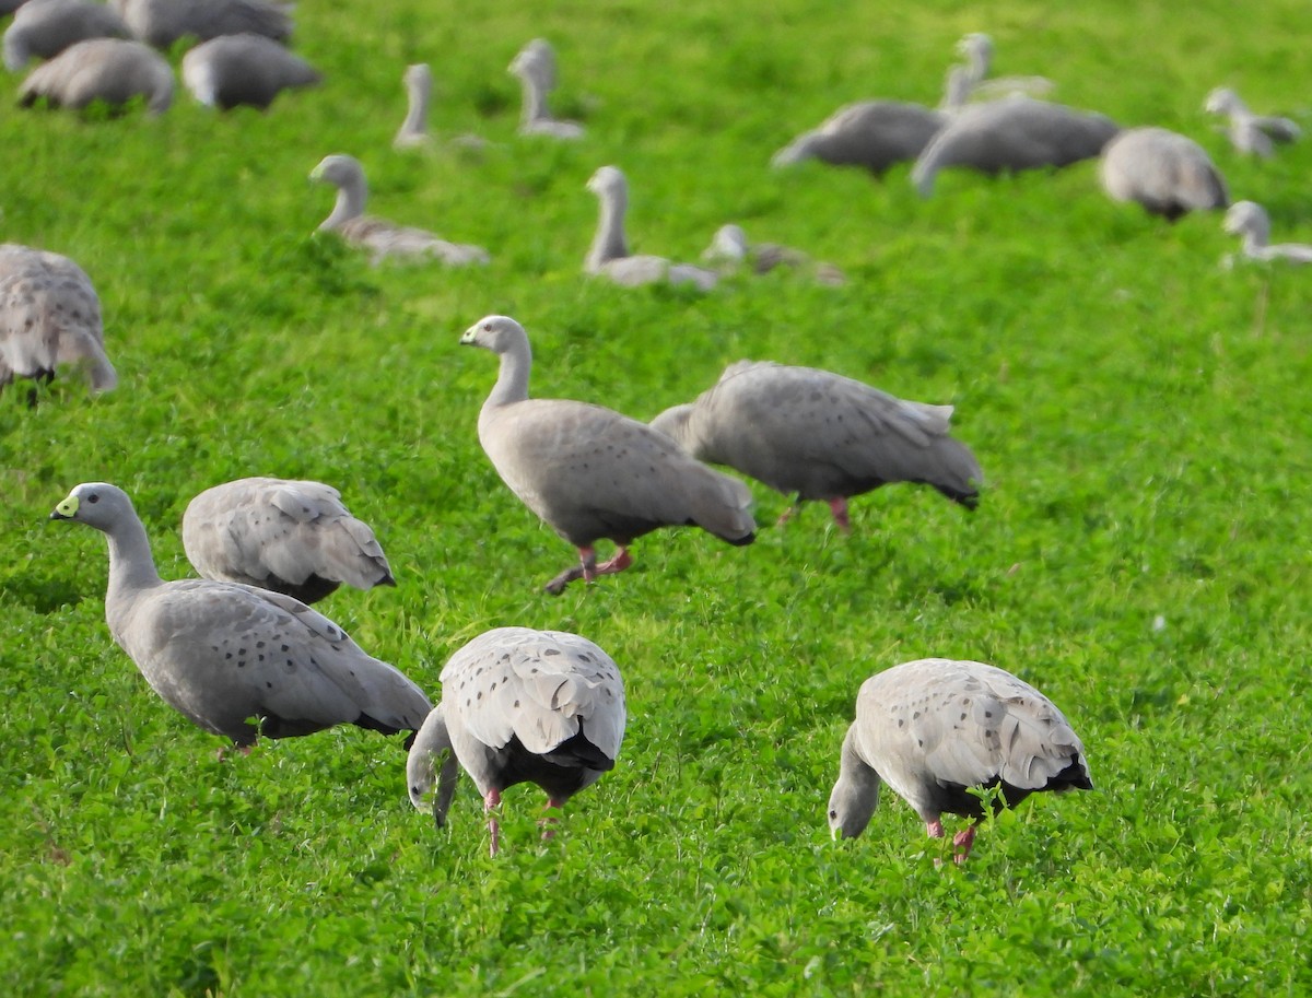
[[994, 812], [1039, 791], [1093, 789], [1080, 736], [1047, 696], [996, 666], [949, 658], [895, 665], [862, 683], [829, 796], [834, 838], [866, 829], [880, 783], [916, 809], [930, 838], [943, 837], [943, 812], [974, 818], [953, 838], [958, 863], [984, 818], [971, 788], [1000, 787]]

